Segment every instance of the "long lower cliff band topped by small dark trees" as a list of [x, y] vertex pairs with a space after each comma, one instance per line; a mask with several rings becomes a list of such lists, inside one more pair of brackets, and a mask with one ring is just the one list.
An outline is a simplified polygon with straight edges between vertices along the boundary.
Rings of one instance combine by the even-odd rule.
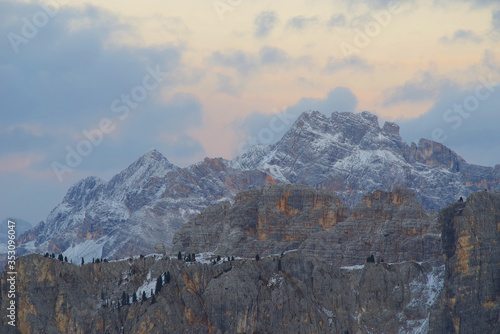
[[[81, 267], [28, 255], [18, 270], [17, 329], [37, 334], [417, 333], [428, 327], [442, 282], [426, 264], [339, 269], [299, 252], [216, 265], [146, 257]], [[152, 303], [165, 272], [171, 281]], [[119, 307], [123, 293], [130, 305]], [[1, 302], [5, 309], [4, 286]], [[1, 321], [2, 333], [14, 332]]]

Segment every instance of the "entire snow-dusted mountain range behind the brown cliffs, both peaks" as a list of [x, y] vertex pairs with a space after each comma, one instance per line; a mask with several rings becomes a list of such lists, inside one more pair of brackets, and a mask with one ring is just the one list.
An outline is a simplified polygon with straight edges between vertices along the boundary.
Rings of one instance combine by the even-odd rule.
[[399, 126], [375, 115], [303, 113], [274, 145], [255, 146], [233, 161], [206, 158], [186, 168], [151, 150], [109, 182], [86, 178], [61, 204], [19, 238], [20, 252], [63, 252], [123, 258], [169, 249], [174, 233], [194, 214], [266, 182], [300, 183], [336, 191], [348, 205], [376, 189], [403, 186], [427, 209], [460, 196], [500, 189], [500, 165], [470, 165], [442, 144], [406, 144]]

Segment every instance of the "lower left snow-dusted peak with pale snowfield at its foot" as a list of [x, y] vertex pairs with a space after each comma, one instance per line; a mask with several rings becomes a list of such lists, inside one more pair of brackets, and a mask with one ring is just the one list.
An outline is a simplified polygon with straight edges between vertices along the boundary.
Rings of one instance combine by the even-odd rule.
[[45, 223], [19, 238], [19, 252], [63, 252], [80, 263], [148, 254], [158, 242], [170, 248], [194, 214], [265, 181], [265, 173], [234, 170], [223, 159], [181, 169], [151, 150], [109, 182], [89, 177], [73, 185]]

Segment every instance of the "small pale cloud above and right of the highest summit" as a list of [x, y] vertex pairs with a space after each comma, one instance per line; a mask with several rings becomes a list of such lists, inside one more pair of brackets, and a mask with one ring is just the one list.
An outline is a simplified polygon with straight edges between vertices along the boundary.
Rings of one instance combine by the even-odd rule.
[[418, 103], [433, 100], [451, 87], [453, 87], [453, 83], [440, 78], [435, 70], [420, 71], [402, 86], [386, 90], [384, 92], [384, 106], [387, 107], [401, 102]]

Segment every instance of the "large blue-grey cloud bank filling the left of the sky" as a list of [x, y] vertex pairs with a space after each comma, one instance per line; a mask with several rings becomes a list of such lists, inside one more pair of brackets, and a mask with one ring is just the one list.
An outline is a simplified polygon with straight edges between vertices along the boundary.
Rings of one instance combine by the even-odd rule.
[[[91, 153], [74, 168], [75, 173], [66, 174], [65, 181], [118, 170], [151, 147], [164, 147], [179, 158], [200, 151], [202, 146], [194, 139], [176, 139], [201, 125], [203, 108], [199, 100], [185, 93], [167, 100], [163, 97], [168, 89], [203, 77], [199, 69], [186, 70], [183, 47], [119, 44], [116, 41], [122, 40], [120, 36], [138, 36], [137, 31], [93, 6], [60, 7], [34, 36], [24, 37], [22, 18], [32, 18], [41, 10], [35, 2], [0, 3], [0, 35], [16, 34], [27, 40], [11, 44], [9, 38], [0, 39], [0, 100], [4, 110], [0, 140], [8, 144], [1, 145], [0, 159], [13, 159], [14, 153], [36, 157], [23, 160], [16, 156], [13, 161], [24, 164], [9, 173], [45, 177], [56, 183], [52, 163], [65, 163], [68, 147], [76, 149], [87, 140], [82, 132], [99, 129], [99, 122], [105, 118], [112, 121], [114, 130], [92, 146]], [[172, 19], [169, 25], [183, 30], [178, 19]], [[157, 82], [154, 73], [169, 75]], [[145, 89], [145, 84], [150, 88]], [[124, 114], [115, 112], [115, 101], [121, 110], [128, 110], [128, 117], [121, 119]], [[43, 126], [35, 131], [37, 124]], [[158, 141], [165, 132], [174, 135], [176, 149], [172, 149], [173, 144]], [[185, 151], [181, 150], [183, 139]]]

